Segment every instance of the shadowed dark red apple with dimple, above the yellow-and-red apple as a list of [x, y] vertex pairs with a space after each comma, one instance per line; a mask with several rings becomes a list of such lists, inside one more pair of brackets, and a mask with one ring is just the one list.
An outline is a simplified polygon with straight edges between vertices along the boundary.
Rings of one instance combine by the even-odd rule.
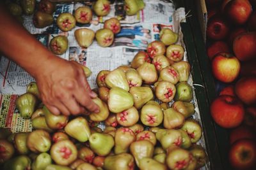
[[230, 28], [227, 21], [224, 18], [221, 18], [219, 15], [216, 15], [210, 18], [206, 34], [208, 38], [214, 40], [221, 40], [227, 37]]

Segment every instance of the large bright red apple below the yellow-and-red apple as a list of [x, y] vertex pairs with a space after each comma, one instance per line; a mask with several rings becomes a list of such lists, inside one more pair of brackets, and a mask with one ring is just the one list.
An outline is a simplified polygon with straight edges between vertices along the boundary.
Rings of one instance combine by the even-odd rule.
[[237, 97], [219, 96], [211, 103], [211, 116], [221, 127], [237, 127], [244, 118], [243, 103]]

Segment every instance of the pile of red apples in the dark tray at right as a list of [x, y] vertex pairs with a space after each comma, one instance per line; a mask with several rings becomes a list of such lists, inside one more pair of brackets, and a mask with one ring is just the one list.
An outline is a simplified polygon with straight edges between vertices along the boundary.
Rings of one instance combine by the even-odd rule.
[[218, 92], [211, 115], [230, 129], [231, 166], [256, 169], [256, 1], [205, 2], [207, 55]]

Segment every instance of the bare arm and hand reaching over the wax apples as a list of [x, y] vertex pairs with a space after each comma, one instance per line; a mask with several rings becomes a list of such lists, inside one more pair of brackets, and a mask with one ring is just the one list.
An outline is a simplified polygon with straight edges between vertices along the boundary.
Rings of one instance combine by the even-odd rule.
[[55, 115], [99, 112], [81, 65], [52, 54], [5, 8], [0, 3], [0, 52], [35, 78], [45, 106]]

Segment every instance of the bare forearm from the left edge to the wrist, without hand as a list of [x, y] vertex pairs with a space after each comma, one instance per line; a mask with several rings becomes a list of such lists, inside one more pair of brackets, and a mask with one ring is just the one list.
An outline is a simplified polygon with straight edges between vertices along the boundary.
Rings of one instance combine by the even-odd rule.
[[0, 3], [0, 51], [35, 77], [36, 71], [56, 58], [13, 18]]

